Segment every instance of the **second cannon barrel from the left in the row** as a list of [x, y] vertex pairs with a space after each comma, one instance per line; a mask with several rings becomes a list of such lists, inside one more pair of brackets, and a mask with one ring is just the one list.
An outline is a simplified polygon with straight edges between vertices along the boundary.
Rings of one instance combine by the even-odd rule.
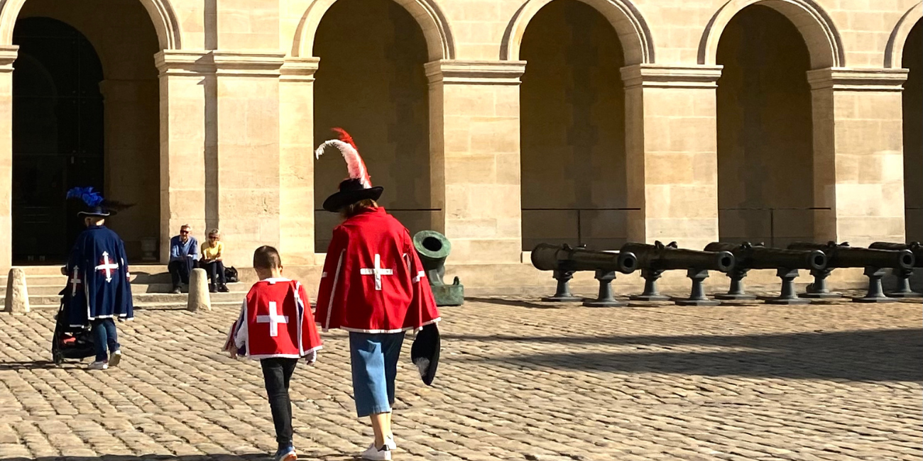
[[620, 251], [634, 254], [638, 259], [639, 268], [701, 269], [719, 272], [728, 272], [734, 268], [734, 254], [726, 251], [701, 252], [646, 243], [626, 243]]

